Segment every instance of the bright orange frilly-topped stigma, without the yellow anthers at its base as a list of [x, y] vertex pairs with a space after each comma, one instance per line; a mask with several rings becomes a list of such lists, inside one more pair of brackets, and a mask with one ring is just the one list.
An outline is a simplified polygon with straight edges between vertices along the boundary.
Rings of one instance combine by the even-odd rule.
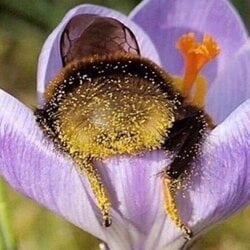
[[181, 51], [185, 63], [182, 93], [189, 97], [199, 72], [220, 53], [220, 47], [214, 38], [207, 34], [203, 36], [202, 42], [198, 43], [194, 33], [181, 36], [176, 47]]

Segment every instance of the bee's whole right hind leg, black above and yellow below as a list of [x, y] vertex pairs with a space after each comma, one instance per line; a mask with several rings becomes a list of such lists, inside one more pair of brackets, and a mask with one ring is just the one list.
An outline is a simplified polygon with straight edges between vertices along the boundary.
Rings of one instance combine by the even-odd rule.
[[207, 117], [202, 110], [187, 107], [184, 118], [177, 120], [165, 140], [164, 148], [175, 153], [169, 167], [163, 171], [165, 209], [168, 216], [185, 234], [192, 237], [192, 231], [182, 222], [176, 206], [176, 192], [181, 184], [181, 177], [187, 173], [201, 148], [201, 141], [206, 133]]

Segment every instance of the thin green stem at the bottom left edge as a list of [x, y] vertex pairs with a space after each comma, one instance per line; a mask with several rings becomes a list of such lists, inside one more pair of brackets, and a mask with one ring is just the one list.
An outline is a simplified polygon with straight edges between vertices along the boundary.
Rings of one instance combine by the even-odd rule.
[[10, 227], [9, 216], [5, 202], [4, 183], [0, 178], [0, 250], [16, 249], [16, 242]]

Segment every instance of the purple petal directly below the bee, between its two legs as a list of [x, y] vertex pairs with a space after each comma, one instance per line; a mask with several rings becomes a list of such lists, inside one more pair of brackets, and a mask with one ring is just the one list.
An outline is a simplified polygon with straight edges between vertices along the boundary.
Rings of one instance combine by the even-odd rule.
[[161, 178], [157, 176], [167, 165], [163, 152], [114, 157], [105, 164], [113, 207], [121, 215], [120, 226], [126, 229], [129, 239], [129, 246], [123, 248], [121, 241], [109, 237], [111, 249], [160, 249], [178, 235], [178, 230], [166, 220]]

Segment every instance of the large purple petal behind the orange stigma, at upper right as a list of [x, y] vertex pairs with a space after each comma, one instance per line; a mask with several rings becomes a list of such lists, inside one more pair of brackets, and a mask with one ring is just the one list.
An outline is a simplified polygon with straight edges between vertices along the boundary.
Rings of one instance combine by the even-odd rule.
[[210, 82], [247, 41], [246, 29], [227, 0], [145, 0], [130, 17], [149, 34], [165, 69], [174, 75], [183, 73], [175, 43], [184, 33], [195, 32], [199, 37], [208, 33], [219, 43], [218, 59], [204, 72]]

